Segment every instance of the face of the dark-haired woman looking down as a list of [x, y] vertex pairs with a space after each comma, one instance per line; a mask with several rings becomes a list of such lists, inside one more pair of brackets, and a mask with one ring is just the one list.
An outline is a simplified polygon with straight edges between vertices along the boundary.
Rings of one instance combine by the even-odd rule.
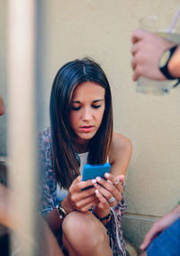
[[103, 119], [105, 90], [93, 81], [85, 81], [73, 92], [70, 125], [77, 144], [86, 145], [94, 137]]

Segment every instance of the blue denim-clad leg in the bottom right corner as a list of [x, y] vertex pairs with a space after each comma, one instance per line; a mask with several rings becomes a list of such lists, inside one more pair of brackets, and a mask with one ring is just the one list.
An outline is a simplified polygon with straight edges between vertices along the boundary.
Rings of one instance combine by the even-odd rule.
[[179, 256], [180, 255], [180, 218], [161, 232], [147, 249], [148, 256]]

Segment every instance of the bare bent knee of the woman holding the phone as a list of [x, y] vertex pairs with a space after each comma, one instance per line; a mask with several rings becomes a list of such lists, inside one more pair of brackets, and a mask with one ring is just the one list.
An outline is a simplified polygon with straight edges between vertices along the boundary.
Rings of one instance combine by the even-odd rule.
[[68, 214], [62, 230], [63, 244], [70, 256], [112, 256], [107, 231], [92, 213]]

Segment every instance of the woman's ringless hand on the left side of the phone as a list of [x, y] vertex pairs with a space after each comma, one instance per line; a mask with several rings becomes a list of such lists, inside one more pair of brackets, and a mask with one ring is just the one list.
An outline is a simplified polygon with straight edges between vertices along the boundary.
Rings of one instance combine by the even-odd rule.
[[[92, 187], [82, 190], [87, 186]], [[74, 210], [85, 213], [97, 202], [92, 180], [82, 181], [82, 175], [79, 175], [69, 187], [68, 195], [63, 200], [62, 205], [69, 213]]]

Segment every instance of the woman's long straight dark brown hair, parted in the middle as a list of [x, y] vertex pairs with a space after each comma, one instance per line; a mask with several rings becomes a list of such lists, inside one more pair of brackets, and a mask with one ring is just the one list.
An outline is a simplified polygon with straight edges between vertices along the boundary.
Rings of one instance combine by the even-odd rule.
[[102, 68], [89, 58], [67, 62], [60, 68], [53, 81], [49, 106], [53, 166], [58, 184], [65, 189], [68, 189], [79, 175], [69, 113], [73, 91], [78, 84], [85, 81], [94, 81], [105, 89], [103, 120], [88, 144], [88, 163], [105, 163], [112, 142], [112, 96]]

